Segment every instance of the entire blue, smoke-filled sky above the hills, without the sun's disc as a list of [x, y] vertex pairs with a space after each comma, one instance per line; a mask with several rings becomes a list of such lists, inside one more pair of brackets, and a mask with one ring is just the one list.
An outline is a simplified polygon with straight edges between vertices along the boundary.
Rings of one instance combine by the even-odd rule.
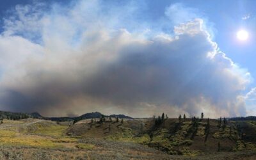
[[255, 3], [1, 1], [0, 109], [256, 115]]

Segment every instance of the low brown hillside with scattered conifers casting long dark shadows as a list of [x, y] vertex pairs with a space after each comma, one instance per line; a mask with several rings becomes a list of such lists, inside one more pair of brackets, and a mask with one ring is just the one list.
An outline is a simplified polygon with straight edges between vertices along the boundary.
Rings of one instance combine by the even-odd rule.
[[168, 154], [196, 156], [206, 152], [255, 150], [255, 139], [251, 135], [255, 129], [251, 122], [226, 120], [220, 124], [220, 120], [202, 118], [165, 118], [161, 124], [156, 124], [154, 118], [124, 119], [123, 122], [106, 118], [104, 122], [100, 119], [78, 122], [67, 134], [139, 143]]

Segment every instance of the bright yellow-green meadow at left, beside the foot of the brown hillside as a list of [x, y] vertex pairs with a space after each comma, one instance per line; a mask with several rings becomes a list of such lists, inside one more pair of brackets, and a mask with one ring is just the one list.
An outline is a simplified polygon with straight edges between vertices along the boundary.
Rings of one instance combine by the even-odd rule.
[[[13, 121], [13, 122], [12, 122]], [[38, 122], [31, 125], [16, 125], [14, 120], [8, 120], [15, 127], [0, 129], [0, 144], [11, 146], [26, 146], [39, 148], [65, 148], [67, 143], [76, 143], [76, 138], [65, 135], [68, 126], [57, 125], [54, 122]]]

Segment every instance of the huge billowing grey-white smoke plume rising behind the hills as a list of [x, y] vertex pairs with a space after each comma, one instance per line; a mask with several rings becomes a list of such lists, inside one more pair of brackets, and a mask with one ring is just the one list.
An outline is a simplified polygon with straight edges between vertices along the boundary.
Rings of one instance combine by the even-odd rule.
[[[241, 92], [250, 74], [219, 51], [202, 27], [204, 20], [170, 26], [170, 35], [116, 25], [136, 24], [131, 4], [124, 6], [132, 8], [126, 10], [131, 15], [124, 16], [98, 1], [68, 8], [55, 4], [45, 11], [38, 6], [19, 6], [5, 19], [1, 109], [46, 116], [245, 115]], [[31, 34], [24, 32], [35, 26]]]

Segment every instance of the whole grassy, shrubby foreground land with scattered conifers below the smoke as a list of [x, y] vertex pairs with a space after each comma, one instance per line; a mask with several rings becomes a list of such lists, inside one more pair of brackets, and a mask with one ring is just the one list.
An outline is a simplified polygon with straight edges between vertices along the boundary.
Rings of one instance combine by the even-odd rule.
[[[3, 120], [0, 159], [255, 159], [256, 123], [168, 118]], [[4, 127], [5, 126], [5, 127]], [[219, 145], [220, 144], [220, 145]]]

